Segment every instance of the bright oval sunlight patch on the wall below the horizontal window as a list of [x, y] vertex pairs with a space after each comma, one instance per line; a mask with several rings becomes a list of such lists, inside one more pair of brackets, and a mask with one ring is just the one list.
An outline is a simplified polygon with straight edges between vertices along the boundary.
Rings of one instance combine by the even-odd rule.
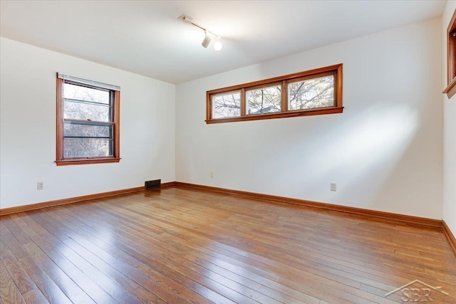
[[343, 176], [342, 192], [349, 195], [356, 189], [358, 201], [372, 204], [407, 152], [418, 126], [418, 112], [411, 105], [385, 102], [361, 112], [339, 128], [331, 151], [326, 151], [332, 161], [320, 170], [321, 178]]

